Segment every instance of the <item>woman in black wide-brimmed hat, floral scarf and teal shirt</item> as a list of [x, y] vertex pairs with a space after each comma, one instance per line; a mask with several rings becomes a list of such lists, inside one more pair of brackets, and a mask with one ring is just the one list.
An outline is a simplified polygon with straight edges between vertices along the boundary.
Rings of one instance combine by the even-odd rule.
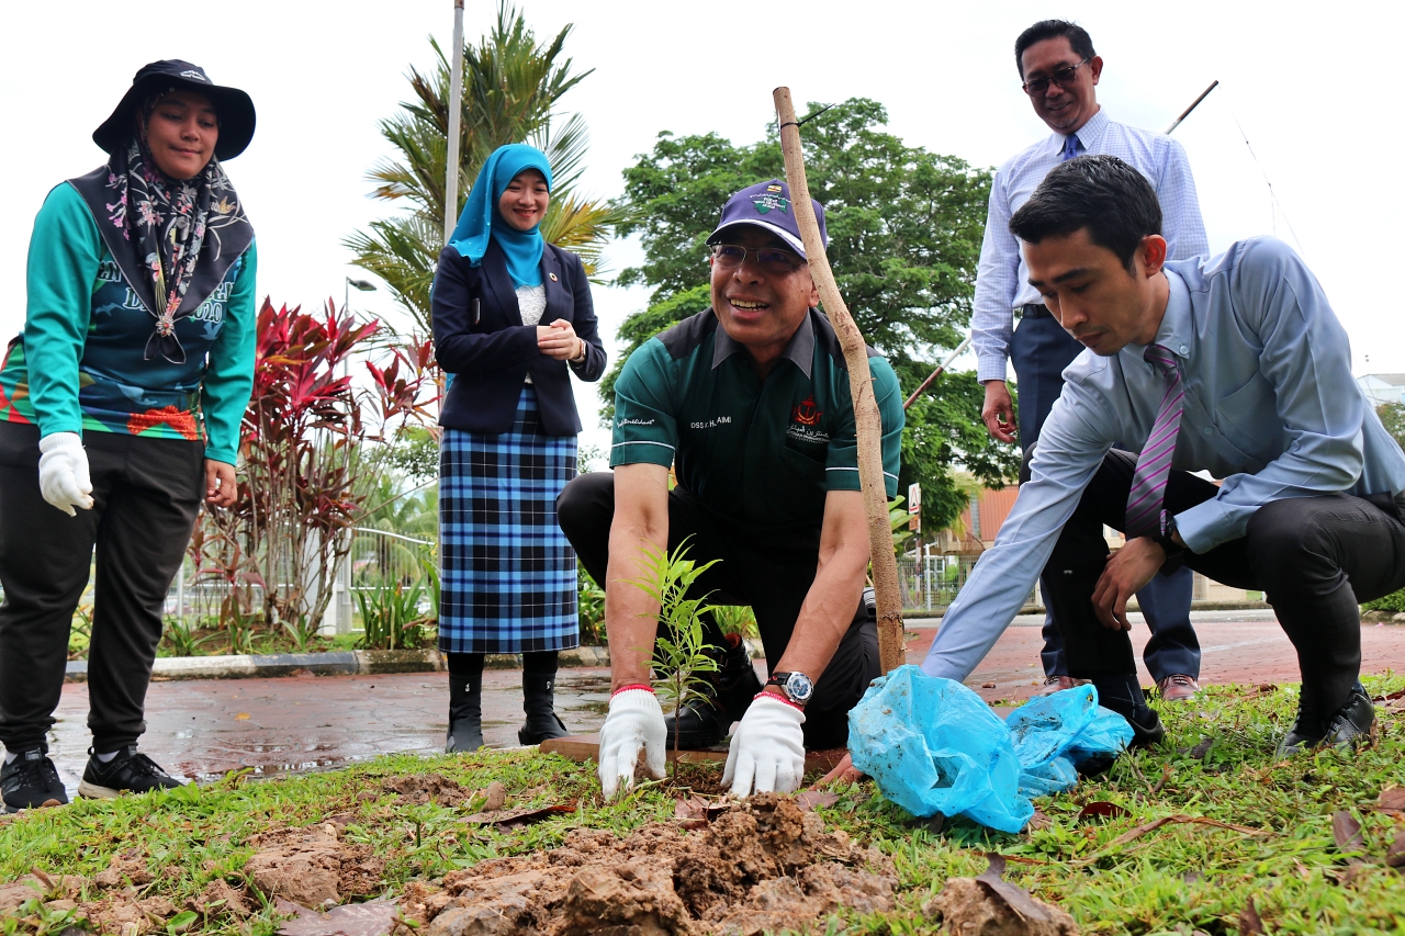
[[35, 218], [24, 333], [0, 364], [7, 812], [67, 801], [45, 738], [94, 548], [79, 793], [178, 786], [136, 741], [201, 500], [235, 500], [256, 259], [221, 162], [253, 132], [247, 94], [190, 62], [153, 62], [93, 132], [107, 163], [55, 187]]

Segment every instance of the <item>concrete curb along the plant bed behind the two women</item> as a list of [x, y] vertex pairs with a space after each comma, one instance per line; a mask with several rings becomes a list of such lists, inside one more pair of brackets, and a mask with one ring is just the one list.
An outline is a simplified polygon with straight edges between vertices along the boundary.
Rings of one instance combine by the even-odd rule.
[[[561, 651], [561, 666], [608, 666], [606, 646], [576, 646]], [[520, 669], [520, 654], [489, 654], [488, 669]], [[330, 654], [267, 654], [229, 656], [162, 656], [152, 666], [152, 679], [251, 679], [275, 676], [375, 676], [378, 673], [443, 673], [448, 669], [437, 649], [337, 651]], [[70, 659], [63, 682], [86, 683], [87, 661]]]

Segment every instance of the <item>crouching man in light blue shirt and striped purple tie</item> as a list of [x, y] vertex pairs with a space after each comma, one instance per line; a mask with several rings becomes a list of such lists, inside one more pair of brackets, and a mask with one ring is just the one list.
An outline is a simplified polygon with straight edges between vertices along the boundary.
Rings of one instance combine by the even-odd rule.
[[[1156, 194], [1113, 156], [1055, 167], [1010, 230], [1087, 350], [922, 669], [965, 679], [1043, 569], [1069, 675], [1093, 680], [1134, 743], [1155, 743], [1127, 599], [1183, 562], [1262, 589], [1297, 648], [1302, 694], [1279, 755], [1354, 743], [1374, 720], [1357, 603], [1405, 586], [1405, 455], [1312, 273], [1267, 238], [1168, 263]], [[1104, 524], [1127, 534], [1114, 555]]]

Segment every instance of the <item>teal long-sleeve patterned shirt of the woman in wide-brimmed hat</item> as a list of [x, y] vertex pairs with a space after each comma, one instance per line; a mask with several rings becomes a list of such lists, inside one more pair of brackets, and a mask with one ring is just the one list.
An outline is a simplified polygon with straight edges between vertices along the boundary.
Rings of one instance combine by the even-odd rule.
[[126, 285], [77, 191], [49, 193], [34, 222], [24, 334], [0, 367], [0, 419], [39, 434], [117, 431], [201, 437], [205, 457], [235, 464], [253, 391], [250, 245], [194, 315], [177, 322], [183, 364], [145, 360], [153, 318]]

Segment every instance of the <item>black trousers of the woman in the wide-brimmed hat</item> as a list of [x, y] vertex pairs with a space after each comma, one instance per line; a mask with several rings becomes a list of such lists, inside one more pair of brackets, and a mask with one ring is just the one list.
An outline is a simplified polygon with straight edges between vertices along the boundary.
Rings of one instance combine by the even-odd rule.
[[166, 592], [205, 493], [204, 444], [84, 433], [91, 510], [39, 493], [39, 430], [0, 423], [0, 742], [45, 748], [63, 689], [69, 627], [97, 550], [89, 728], [100, 752], [146, 731], [143, 710]]

